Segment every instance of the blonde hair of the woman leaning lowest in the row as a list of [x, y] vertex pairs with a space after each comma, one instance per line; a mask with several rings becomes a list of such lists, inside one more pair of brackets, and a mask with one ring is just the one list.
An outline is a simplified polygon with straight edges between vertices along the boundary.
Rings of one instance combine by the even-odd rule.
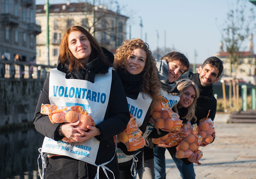
[[[183, 91], [185, 90], [185, 88], [187, 88], [189, 86], [192, 86], [195, 89], [195, 98], [194, 98], [192, 104], [187, 107], [188, 112], [184, 118], [191, 120], [194, 117], [195, 121], [197, 121], [197, 117], [195, 116], [197, 98], [199, 97], [199, 89], [197, 87], [197, 84], [195, 84], [190, 79], [181, 79], [181, 80], [177, 81], [176, 83], [177, 83], [177, 89], [180, 92], [172, 94], [175, 96], [181, 96], [183, 94]], [[177, 105], [178, 105], [178, 103], [173, 107], [176, 112], [178, 111]]]

